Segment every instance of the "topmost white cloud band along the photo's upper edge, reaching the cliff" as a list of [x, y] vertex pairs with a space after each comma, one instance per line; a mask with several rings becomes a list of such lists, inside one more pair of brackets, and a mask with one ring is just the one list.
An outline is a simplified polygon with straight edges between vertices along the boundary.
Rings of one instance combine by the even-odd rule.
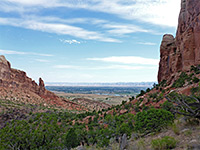
[[176, 27], [181, 0], [1, 0], [1, 11], [67, 7], [114, 14], [160, 26]]

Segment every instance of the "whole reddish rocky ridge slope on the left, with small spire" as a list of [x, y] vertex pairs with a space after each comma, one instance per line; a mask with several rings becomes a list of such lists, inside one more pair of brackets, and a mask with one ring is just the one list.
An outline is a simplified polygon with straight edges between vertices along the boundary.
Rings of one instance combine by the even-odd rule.
[[53, 105], [69, 110], [87, 110], [46, 90], [41, 78], [38, 85], [24, 71], [11, 68], [10, 62], [3, 55], [0, 56], [0, 98], [28, 104]]

